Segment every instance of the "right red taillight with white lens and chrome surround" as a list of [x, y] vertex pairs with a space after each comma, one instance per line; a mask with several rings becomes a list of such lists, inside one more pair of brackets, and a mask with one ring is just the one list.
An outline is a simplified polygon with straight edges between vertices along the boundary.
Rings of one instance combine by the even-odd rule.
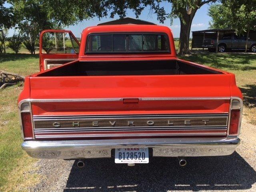
[[230, 102], [230, 120], [229, 120], [229, 132], [230, 135], [238, 135], [240, 129], [242, 114], [242, 100], [232, 99]]

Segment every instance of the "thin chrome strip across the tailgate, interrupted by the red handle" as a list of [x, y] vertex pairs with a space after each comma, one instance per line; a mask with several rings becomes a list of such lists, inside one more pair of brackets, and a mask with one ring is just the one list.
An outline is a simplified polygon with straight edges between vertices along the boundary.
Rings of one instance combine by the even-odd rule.
[[[31, 102], [101, 102], [122, 101], [129, 98], [78, 98], [78, 99], [30, 99]], [[145, 97], [138, 98], [143, 101], [154, 100], [230, 100], [230, 97]]]

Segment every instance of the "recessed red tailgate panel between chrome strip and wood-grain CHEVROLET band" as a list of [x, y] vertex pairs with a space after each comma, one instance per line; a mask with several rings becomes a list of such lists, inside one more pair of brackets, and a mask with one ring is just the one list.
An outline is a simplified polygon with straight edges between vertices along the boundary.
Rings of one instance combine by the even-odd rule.
[[230, 100], [32, 102], [34, 115], [216, 114], [228, 113]]

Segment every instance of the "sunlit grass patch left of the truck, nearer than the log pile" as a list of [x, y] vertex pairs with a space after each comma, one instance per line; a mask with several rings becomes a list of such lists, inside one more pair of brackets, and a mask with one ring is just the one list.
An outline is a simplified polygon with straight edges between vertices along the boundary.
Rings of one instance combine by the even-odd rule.
[[34, 169], [31, 165], [36, 159], [28, 157], [20, 147], [17, 100], [22, 88], [19, 83], [0, 90], [0, 191], [24, 191], [32, 181], [38, 181], [34, 173], [24, 177], [25, 172]]

